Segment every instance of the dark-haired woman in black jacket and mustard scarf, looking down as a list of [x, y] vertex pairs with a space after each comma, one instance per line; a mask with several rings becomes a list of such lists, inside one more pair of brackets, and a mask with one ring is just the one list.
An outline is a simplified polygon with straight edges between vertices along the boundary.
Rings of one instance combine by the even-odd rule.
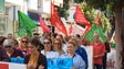
[[28, 47], [31, 54], [24, 58], [28, 69], [48, 69], [46, 58], [39, 51], [40, 45], [41, 43], [38, 38], [31, 38], [29, 41]]

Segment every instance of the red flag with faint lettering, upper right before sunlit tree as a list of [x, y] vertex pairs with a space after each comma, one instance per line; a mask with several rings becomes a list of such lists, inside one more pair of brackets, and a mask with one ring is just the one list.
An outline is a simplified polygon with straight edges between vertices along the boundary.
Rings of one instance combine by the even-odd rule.
[[82, 13], [79, 5], [76, 5], [76, 10], [75, 10], [75, 22], [80, 24], [84, 24], [86, 26], [90, 25], [90, 22], [86, 20], [84, 13]]

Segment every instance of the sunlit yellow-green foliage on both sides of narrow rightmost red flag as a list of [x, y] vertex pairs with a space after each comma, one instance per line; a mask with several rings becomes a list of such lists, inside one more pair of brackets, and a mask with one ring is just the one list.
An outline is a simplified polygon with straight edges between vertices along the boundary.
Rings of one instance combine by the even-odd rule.
[[[83, 2], [81, 4], [82, 12], [85, 14], [86, 19], [90, 21], [91, 24], [95, 23], [96, 20], [96, 9], [89, 7], [86, 2]], [[101, 27], [104, 33], [110, 33], [111, 32], [111, 24], [107, 18], [105, 18], [104, 12], [101, 11], [100, 15], [100, 22], [101, 22]]]

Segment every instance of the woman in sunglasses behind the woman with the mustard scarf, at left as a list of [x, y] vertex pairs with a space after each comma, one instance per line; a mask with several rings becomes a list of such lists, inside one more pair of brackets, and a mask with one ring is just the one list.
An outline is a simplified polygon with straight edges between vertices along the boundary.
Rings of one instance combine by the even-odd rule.
[[29, 38], [28, 37], [22, 37], [19, 44], [19, 50], [23, 53], [24, 56], [30, 54], [30, 50], [28, 49], [28, 43]]

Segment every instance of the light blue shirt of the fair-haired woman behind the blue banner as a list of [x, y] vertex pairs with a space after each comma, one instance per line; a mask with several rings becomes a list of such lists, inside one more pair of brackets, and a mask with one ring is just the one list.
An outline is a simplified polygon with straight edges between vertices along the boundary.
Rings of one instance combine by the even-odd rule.
[[[63, 54], [63, 55], [61, 56], [61, 58], [71, 58], [71, 57], [69, 57], [68, 54]], [[84, 60], [81, 58], [81, 56], [78, 55], [78, 54], [74, 54], [74, 56], [73, 56], [73, 67], [74, 67], [75, 69], [85, 69], [85, 62], [84, 62]]]

